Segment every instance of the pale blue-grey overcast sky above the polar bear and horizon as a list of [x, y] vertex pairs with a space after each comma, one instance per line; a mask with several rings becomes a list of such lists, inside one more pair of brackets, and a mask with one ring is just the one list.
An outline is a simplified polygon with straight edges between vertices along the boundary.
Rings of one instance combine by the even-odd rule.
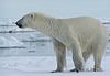
[[41, 12], [55, 18], [110, 18], [110, 0], [0, 0], [0, 18]]

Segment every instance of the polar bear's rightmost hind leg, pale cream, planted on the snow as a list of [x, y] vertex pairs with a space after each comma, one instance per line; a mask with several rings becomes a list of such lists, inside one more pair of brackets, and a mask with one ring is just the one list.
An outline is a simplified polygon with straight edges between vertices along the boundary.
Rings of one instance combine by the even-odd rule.
[[[97, 46], [97, 47], [96, 47]], [[95, 72], [100, 72], [101, 69], [101, 61], [103, 57], [103, 54], [106, 52], [106, 42], [100, 41], [98, 45], [96, 45], [94, 48], [94, 59], [95, 59]]]

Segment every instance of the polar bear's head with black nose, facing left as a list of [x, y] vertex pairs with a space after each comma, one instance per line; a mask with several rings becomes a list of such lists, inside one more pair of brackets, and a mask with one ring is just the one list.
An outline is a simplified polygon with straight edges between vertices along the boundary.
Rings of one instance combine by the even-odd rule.
[[43, 14], [40, 13], [29, 13], [22, 17], [15, 24], [19, 28], [41, 28], [44, 25], [45, 18]]

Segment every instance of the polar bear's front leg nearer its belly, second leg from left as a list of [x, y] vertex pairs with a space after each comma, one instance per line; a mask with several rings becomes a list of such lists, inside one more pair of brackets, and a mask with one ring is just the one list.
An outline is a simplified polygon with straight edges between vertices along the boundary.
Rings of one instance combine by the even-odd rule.
[[75, 69], [72, 69], [70, 72], [80, 72], [84, 70], [84, 65], [85, 65], [85, 61], [82, 57], [82, 52], [81, 52], [81, 47], [79, 42], [75, 42], [73, 44], [73, 61], [75, 64]]

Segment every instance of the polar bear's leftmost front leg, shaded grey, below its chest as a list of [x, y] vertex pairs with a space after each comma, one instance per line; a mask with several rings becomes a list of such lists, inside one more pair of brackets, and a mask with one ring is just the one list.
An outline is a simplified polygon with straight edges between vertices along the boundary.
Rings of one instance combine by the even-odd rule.
[[57, 68], [52, 73], [63, 72], [64, 66], [66, 65], [66, 47], [63, 43], [55, 40], [53, 41], [54, 50], [56, 52], [56, 59], [57, 59]]

